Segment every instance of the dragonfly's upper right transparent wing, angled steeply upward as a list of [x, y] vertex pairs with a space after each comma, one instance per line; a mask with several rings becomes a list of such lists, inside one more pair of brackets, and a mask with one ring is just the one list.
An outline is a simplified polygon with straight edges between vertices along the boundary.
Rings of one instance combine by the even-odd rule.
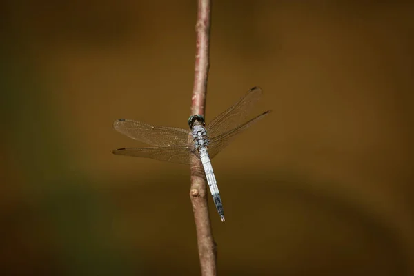
[[261, 96], [262, 89], [259, 87], [251, 88], [242, 99], [210, 121], [206, 127], [208, 137], [214, 138], [241, 125]]

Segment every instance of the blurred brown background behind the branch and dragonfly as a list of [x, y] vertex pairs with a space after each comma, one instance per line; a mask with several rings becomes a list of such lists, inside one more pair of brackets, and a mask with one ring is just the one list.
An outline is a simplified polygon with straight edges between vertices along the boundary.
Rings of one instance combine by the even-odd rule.
[[[213, 162], [220, 275], [414, 275], [414, 9], [380, 2], [214, 1], [207, 121], [274, 111]], [[196, 5], [1, 2], [1, 275], [199, 275], [189, 168], [111, 153], [187, 128]]]

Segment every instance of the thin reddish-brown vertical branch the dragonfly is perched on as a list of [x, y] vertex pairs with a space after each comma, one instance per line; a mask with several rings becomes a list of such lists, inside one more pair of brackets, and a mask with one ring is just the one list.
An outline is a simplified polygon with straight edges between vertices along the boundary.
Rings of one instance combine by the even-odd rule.
[[[210, 0], [198, 0], [197, 24], [195, 26], [197, 42], [195, 54], [195, 75], [193, 97], [191, 98], [191, 115], [205, 115], [209, 47], [210, 47]], [[201, 161], [193, 157], [191, 161], [190, 199], [193, 204], [195, 229], [201, 275], [217, 275], [217, 255], [215, 242], [208, 215], [208, 190], [206, 175]]]

